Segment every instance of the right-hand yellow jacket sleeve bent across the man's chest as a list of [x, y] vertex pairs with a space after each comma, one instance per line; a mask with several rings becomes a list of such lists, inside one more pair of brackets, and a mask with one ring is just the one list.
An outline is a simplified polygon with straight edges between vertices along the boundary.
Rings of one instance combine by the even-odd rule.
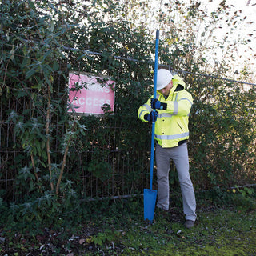
[[191, 106], [193, 105], [192, 95], [187, 92], [179, 92], [176, 101], [169, 101], [166, 111], [172, 115], [187, 116], [190, 114]]

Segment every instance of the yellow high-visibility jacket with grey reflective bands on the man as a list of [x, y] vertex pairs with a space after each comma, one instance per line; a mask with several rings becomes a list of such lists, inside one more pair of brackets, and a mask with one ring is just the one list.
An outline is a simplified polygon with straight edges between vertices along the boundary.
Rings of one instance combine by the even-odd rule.
[[[155, 122], [154, 138], [162, 147], [174, 147], [180, 145], [189, 138], [189, 114], [193, 104], [192, 95], [185, 90], [185, 82], [178, 75], [174, 75], [173, 87], [168, 98], [165, 98], [160, 91], [157, 91], [157, 98], [160, 102], [167, 103], [166, 110], [157, 110], [158, 118]], [[146, 104], [138, 109], [138, 118], [142, 122], [145, 114], [151, 109], [151, 96]]]

